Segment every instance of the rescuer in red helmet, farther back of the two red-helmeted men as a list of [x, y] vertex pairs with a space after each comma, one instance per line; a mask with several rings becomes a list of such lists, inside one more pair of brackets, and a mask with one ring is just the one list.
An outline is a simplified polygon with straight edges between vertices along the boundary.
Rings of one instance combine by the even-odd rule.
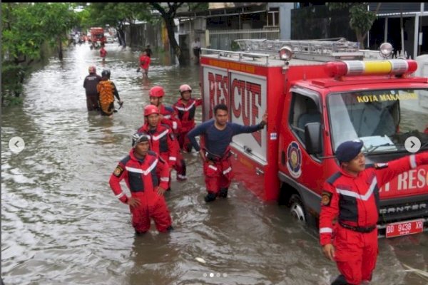
[[[148, 91], [148, 95], [150, 96], [151, 105], [158, 107], [159, 114], [161, 115], [161, 123], [168, 125], [171, 130], [173, 130], [175, 137], [178, 138], [181, 131], [181, 123], [175, 116], [174, 109], [169, 106], [167, 107], [162, 103], [165, 90], [163, 90], [162, 86], [153, 86], [151, 90]], [[175, 143], [177, 144], [178, 150], [180, 150], [178, 140], [175, 140]], [[178, 181], [187, 179], [185, 161], [180, 151], [177, 152], [177, 162], [174, 165], [174, 169], [177, 172]]]

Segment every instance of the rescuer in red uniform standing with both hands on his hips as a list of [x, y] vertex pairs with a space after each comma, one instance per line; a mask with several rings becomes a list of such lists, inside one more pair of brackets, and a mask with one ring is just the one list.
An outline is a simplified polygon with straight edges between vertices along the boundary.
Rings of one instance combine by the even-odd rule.
[[[114, 195], [129, 205], [136, 234], [143, 234], [150, 229], [151, 218], [158, 232], [173, 229], [163, 197], [168, 187], [168, 176], [168, 163], [150, 150], [148, 135], [138, 135], [129, 155], [118, 163], [110, 177], [110, 187]], [[122, 191], [120, 182], [123, 179], [131, 191], [131, 197]]]

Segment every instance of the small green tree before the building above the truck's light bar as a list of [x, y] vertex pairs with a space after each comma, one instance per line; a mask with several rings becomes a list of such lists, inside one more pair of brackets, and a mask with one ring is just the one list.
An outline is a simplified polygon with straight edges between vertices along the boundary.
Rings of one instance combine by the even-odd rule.
[[379, 2], [373, 12], [367, 9], [368, 4], [367, 2], [328, 2], [326, 4], [330, 10], [350, 11], [350, 28], [355, 31], [355, 36], [357, 36], [357, 41], [360, 42], [360, 48], [362, 49], [365, 48], [365, 38], [370, 28], [372, 28], [374, 20], [376, 20], [376, 15], [381, 5]]

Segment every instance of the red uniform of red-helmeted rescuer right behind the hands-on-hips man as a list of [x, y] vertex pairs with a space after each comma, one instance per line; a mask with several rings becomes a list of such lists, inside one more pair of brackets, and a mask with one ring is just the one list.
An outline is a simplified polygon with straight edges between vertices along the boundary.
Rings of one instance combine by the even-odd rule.
[[[137, 132], [150, 135], [150, 149], [167, 161], [169, 167], [174, 167], [179, 151], [173, 132], [167, 125], [159, 123], [156, 129], [151, 130], [146, 123]], [[171, 181], [169, 180], [167, 188], [170, 188], [170, 184]]]

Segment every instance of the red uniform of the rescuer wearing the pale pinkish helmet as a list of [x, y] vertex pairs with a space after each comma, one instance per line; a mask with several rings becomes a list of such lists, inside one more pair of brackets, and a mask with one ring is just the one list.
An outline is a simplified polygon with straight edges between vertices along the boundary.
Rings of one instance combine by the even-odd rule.
[[187, 138], [188, 132], [195, 128], [195, 113], [196, 107], [202, 105], [202, 99], [190, 98], [188, 103], [184, 103], [180, 98], [175, 102], [173, 108], [178, 114], [178, 118], [181, 122], [181, 131], [178, 134], [178, 143], [180, 144], [181, 150], [190, 152], [192, 150], [192, 143]]

